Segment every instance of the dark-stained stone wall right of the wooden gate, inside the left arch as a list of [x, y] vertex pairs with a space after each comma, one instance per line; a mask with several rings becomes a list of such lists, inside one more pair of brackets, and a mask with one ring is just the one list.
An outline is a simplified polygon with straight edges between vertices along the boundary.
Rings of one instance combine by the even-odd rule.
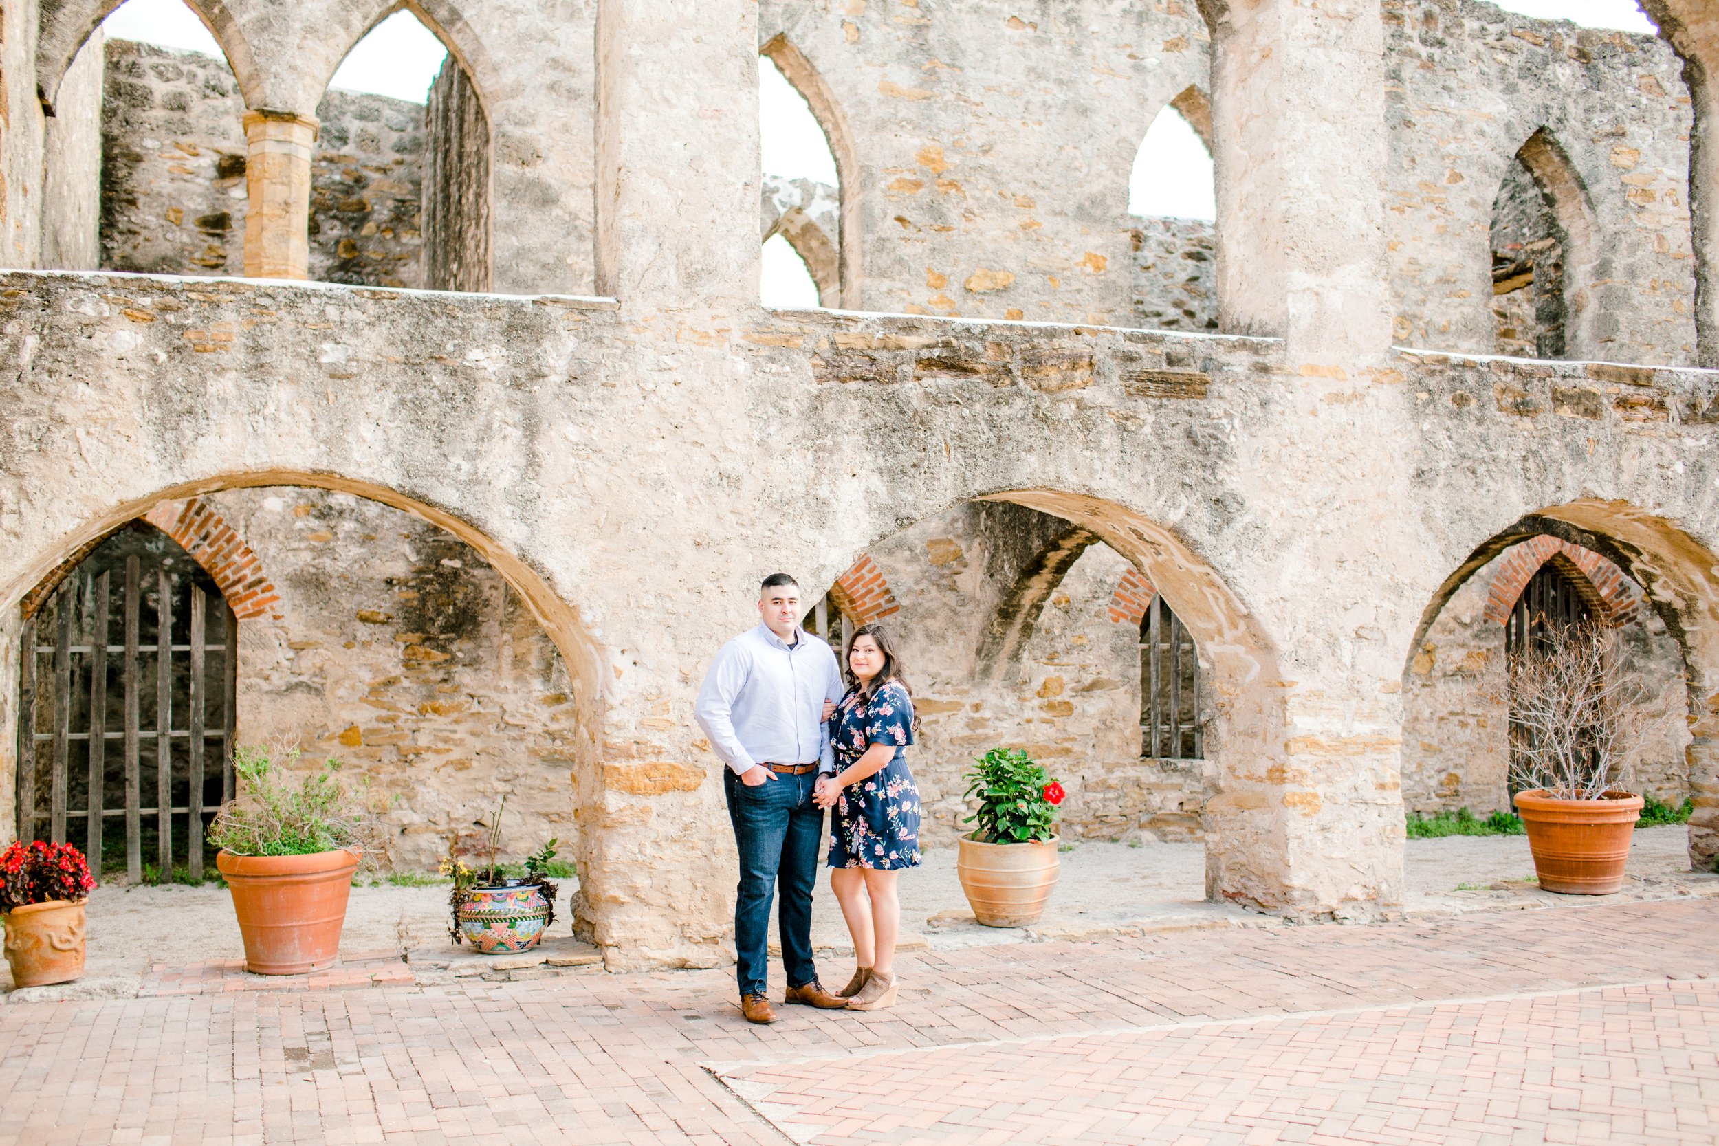
[[205, 495], [278, 600], [239, 624], [239, 742], [340, 759], [392, 801], [397, 868], [433, 869], [500, 797], [504, 849], [576, 849], [572, 696], [502, 576], [450, 533], [351, 493]]

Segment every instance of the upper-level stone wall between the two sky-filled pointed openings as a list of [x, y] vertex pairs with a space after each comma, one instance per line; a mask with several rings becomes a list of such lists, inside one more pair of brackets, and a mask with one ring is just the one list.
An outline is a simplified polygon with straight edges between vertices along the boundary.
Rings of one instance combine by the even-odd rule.
[[1131, 321], [1128, 175], [1152, 119], [1207, 82], [1183, 0], [767, 2], [861, 162], [866, 309]]

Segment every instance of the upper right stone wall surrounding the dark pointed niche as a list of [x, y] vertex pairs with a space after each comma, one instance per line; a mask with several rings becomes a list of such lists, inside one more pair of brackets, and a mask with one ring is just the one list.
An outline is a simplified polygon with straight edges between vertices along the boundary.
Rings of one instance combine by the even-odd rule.
[[1389, 258], [1401, 344], [1490, 352], [1492, 203], [1545, 127], [1568, 158], [1587, 320], [1571, 357], [1695, 361], [1690, 93], [1654, 36], [1533, 21], [1473, 0], [1391, 0]]

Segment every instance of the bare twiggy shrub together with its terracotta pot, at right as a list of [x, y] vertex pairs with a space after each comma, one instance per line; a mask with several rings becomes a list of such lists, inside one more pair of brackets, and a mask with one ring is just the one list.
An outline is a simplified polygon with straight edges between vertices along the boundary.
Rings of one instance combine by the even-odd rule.
[[1516, 811], [1547, 892], [1623, 887], [1642, 797], [1626, 790], [1650, 706], [1616, 629], [1569, 625], [1509, 665]]

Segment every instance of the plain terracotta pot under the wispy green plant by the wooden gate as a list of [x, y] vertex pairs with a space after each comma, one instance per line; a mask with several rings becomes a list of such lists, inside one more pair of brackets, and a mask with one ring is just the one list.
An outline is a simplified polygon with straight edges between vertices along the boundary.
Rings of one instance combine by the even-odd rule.
[[304, 974], [332, 967], [340, 954], [346, 900], [358, 854], [215, 856], [244, 936], [244, 969]]

